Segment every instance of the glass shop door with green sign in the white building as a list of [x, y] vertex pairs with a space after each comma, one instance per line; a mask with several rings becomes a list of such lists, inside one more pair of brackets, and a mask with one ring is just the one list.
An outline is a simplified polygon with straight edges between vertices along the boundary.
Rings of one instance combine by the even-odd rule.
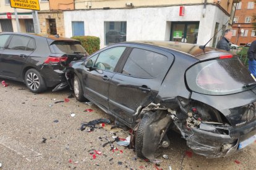
[[171, 41], [197, 43], [199, 22], [173, 22]]

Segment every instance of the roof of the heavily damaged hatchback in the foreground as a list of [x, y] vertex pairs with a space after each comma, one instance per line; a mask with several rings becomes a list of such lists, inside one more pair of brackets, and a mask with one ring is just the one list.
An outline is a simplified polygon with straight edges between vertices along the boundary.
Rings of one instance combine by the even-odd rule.
[[[173, 42], [173, 41], [132, 41], [132, 42], [125, 42], [125, 43], [132, 43], [132, 44], [147, 44], [156, 47], [162, 47], [164, 49], [170, 49], [173, 51], [182, 52], [185, 54], [189, 54], [192, 57], [196, 57], [197, 59], [200, 58], [200, 55], [212, 53], [212, 52], [226, 52], [220, 49], [215, 49], [213, 47], [205, 47], [205, 49], [200, 49], [199, 45], [197, 44], [189, 44], [184, 42]], [[205, 58], [205, 57], [203, 57]]]

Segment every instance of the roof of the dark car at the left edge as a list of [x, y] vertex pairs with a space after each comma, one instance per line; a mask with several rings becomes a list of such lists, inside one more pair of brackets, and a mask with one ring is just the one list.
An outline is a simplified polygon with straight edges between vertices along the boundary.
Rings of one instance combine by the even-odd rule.
[[53, 41], [77, 41], [75, 39], [65, 38], [65, 37], [58, 36], [58, 35], [49, 35], [49, 34], [13, 33], [13, 32], [4, 32], [4, 33], [1, 33], [1, 34], [17, 34], [17, 35], [30, 36], [30, 37], [33, 37], [33, 38], [41, 37], [41, 38], [51, 39]]

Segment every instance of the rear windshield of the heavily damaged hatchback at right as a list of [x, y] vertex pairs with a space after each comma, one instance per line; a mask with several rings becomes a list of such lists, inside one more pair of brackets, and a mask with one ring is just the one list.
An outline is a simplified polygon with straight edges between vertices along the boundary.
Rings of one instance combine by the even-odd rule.
[[255, 86], [250, 72], [237, 57], [202, 62], [186, 72], [187, 85], [192, 91], [224, 95], [247, 91]]

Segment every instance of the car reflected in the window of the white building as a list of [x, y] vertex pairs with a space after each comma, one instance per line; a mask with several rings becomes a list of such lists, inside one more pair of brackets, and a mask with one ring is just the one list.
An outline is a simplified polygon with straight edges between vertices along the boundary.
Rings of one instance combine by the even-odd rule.
[[106, 44], [126, 41], [126, 33], [118, 30], [109, 30], [106, 33]]

